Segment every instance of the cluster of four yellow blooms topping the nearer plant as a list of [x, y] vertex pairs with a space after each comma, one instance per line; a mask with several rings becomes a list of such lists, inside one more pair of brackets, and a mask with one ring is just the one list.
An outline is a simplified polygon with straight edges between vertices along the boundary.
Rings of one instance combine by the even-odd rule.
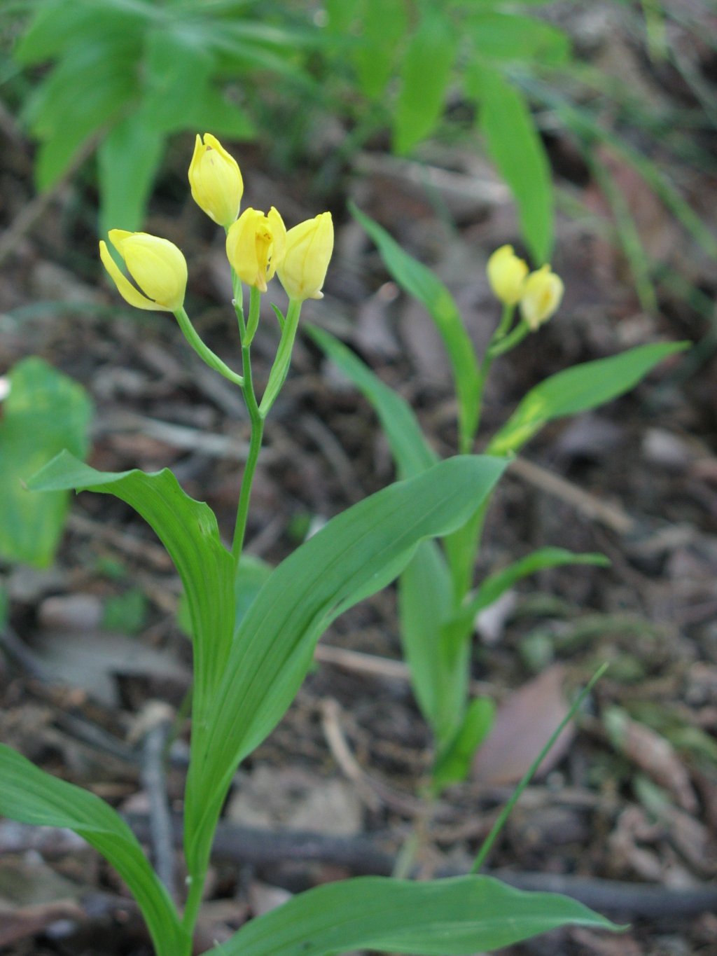
[[[334, 250], [334, 224], [330, 212], [287, 230], [275, 208], [265, 215], [245, 209], [239, 215], [244, 182], [236, 160], [222, 144], [205, 134], [194, 146], [189, 164], [189, 185], [194, 201], [211, 219], [227, 228], [227, 255], [242, 282], [267, 291], [267, 282], [278, 274], [293, 301], [321, 298]], [[138, 309], [177, 312], [185, 301], [186, 261], [167, 239], [146, 232], [111, 229], [109, 239], [120, 253], [136, 288], [120, 271], [104, 242], [99, 255], [120, 295]]]

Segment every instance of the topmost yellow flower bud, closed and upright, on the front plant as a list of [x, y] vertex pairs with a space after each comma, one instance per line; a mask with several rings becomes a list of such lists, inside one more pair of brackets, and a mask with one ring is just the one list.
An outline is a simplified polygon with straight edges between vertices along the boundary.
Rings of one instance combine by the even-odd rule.
[[239, 215], [244, 181], [233, 156], [211, 133], [204, 142], [197, 134], [189, 163], [189, 185], [194, 202], [219, 226], [228, 228]]

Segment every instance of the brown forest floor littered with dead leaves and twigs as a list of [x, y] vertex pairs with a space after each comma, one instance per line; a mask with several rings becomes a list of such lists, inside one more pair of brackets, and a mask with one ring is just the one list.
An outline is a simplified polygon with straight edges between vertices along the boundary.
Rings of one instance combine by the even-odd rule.
[[[623, 48], [621, 58], [611, 54], [618, 75], [634, 69], [655, 98], [686, 96], [665, 68], [651, 70], [627, 41]], [[336, 136], [327, 132], [317, 148], [330, 155]], [[705, 137], [713, 150], [714, 132]], [[228, 537], [248, 439], [240, 397], [187, 349], [170, 316], [131, 312], [108, 288], [91, 185], [63, 185], [34, 222], [17, 227], [33, 202], [33, 150], [8, 118], [0, 138], [0, 216], [10, 229], [0, 261], [0, 372], [38, 355], [80, 381], [96, 405], [90, 463], [114, 471], [171, 467], [217, 512]], [[639, 131], [633, 145], [641, 148]], [[660, 284], [659, 308], [641, 308], [597, 185], [567, 136], [551, 132], [550, 148], [561, 208], [579, 203], [586, 211], [559, 213], [553, 267], [565, 281], [564, 303], [496, 365], [483, 435], [528, 388], [576, 362], [658, 340], [689, 339], [695, 348], [618, 402], [546, 427], [511, 465], [489, 513], [478, 578], [546, 545], [602, 552], [612, 564], [543, 572], [479, 620], [472, 676], [501, 705], [499, 720], [471, 779], [441, 799], [421, 872], [467, 871], [565, 700], [607, 661], [573, 733], [511, 815], [489, 868], [522, 885], [572, 892], [630, 928], [620, 936], [563, 930], [501, 952], [715, 953], [717, 317], [710, 323]], [[190, 151], [189, 138], [174, 143], [146, 228], [185, 251], [189, 314], [236, 364], [223, 236], [188, 189], [184, 203], [176, 198]], [[305, 319], [359, 352], [410, 402], [436, 450], [455, 453], [456, 408], [440, 341], [390, 280], [346, 201], [442, 277], [481, 349], [498, 317], [487, 258], [504, 243], [519, 246], [510, 194], [489, 164], [469, 141], [426, 147], [421, 163], [370, 143], [327, 189], [316, 176], [320, 157], [288, 174], [272, 167], [261, 145], [232, 151], [245, 204], [277, 206], [290, 225], [331, 208], [336, 255], [326, 296], [307, 303]], [[606, 159], [650, 254], [713, 300], [713, 264], [628, 166]], [[717, 206], [714, 168], [685, 167], [681, 188], [699, 212]], [[278, 286], [275, 293], [283, 301]], [[260, 382], [276, 340], [267, 309], [254, 348]], [[299, 336], [259, 460], [250, 554], [279, 562], [308, 532], [393, 478], [371, 408]], [[54, 565], [6, 565], [3, 582], [11, 615], [0, 654], [0, 739], [110, 800], [148, 836], [143, 742], [158, 702], [176, 714], [190, 674], [168, 558], [132, 511], [85, 493], [73, 501]], [[417, 794], [430, 765], [429, 734], [400, 662], [393, 588], [324, 636], [295, 703], [237, 776], [203, 945], [227, 939], [292, 891], [390, 867], [423, 813]], [[187, 739], [180, 721], [166, 777], [177, 813]], [[65, 833], [0, 821], [0, 911], [0, 950], [11, 956], [150, 952], [120, 882]]]

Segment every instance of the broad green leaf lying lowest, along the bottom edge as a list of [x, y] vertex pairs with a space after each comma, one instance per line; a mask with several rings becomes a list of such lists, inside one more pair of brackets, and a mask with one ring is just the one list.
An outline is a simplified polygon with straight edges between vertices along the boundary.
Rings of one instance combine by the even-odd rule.
[[470, 956], [565, 925], [619, 929], [582, 903], [490, 877], [327, 883], [251, 920], [217, 956], [334, 956], [347, 949]]

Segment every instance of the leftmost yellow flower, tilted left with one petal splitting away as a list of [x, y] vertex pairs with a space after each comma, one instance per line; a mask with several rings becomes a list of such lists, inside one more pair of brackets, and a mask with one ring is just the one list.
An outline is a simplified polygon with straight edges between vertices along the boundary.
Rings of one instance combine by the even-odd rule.
[[99, 256], [112, 276], [120, 295], [138, 309], [176, 312], [185, 301], [186, 261], [180, 250], [167, 239], [147, 232], [110, 229], [110, 242], [120, 253], [140, 289], [120, 272], [105, 243], [99, 243]]

